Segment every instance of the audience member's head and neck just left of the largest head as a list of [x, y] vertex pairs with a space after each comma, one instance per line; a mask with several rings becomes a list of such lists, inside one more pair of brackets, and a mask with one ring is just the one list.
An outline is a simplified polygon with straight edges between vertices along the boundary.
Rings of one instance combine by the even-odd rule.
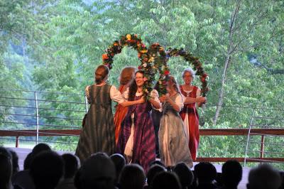
[[64, 161], [64, 174], [62, 180], [58, 184], [57, 189], [72, 189], [75, 188], [74, 176], [80, 167], [80, 160], [77, 156], [71, 153], [65, 153], [62, 155]]

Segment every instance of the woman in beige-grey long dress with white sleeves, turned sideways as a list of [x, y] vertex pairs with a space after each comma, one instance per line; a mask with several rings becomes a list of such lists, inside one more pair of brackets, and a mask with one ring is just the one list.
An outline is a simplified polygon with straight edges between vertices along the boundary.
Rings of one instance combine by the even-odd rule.
[[169, 167], [180, 162], [192, 167], [190, 148], [185, 136], [183, 121], [179, 114], [180, 109], [183, 107], [182, 95], [173, 76], [170, 76], [166, 89], [168, 94], [160, 97], [160, 101], [163, 102], [163, 117], [160, 119], [158, 133], [160, 161]]

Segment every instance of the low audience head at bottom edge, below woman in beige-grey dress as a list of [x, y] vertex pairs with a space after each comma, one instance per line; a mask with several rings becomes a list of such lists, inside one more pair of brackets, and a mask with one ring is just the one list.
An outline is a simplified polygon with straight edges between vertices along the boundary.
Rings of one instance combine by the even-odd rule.
[[155, 175], [152, 182], [153, 189], [181, 189], [178, 175], [171, 172], [161, 172]]

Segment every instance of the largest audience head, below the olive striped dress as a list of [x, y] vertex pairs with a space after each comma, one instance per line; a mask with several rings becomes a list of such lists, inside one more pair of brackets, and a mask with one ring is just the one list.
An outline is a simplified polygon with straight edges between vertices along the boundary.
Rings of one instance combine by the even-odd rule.
[[107, 153], [94, 153], [87, 158], [75, 176], [77, 188], [113, 189], [116, 170]]

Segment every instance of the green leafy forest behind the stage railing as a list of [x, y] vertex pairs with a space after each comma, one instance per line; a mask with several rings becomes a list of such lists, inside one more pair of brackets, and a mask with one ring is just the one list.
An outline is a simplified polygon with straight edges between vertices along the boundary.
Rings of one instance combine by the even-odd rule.
[[[15, 124], [34, 122], [34, 118], [11, 115], [19, 113], [12, 105], [32, 103], [13, 100], [26, 97], [28, 92], [6, 89], [44, 91], [49, 92], [40, 95], [44, 99], [84, 102], [84, 87], [92, 84], [104, 50], [127, 33], [137, 33], [146, 45], [158, 42], [165, 49], [184, 48], [200, 58], [210, 88], [206, 107], [199, 109], [202, 129], [248, 128], [250, 124], [283, 128], [283, 1], [0, 0], [0, 129], [35, 129], [34, 125]], [[118, 87], [121, 69], [139, 64], [137, 52], [124, 48], [114, 57], [109, 82]], [[188, 63], [176, 57], [168, 65], [171, 75], [182, 83], [181, 72]], [[195, 84], [200, 86], [198, 78]], [[42, 106], [85, 109], [84, 104], [72, 103]], [[21, 113], [29, 111], [22, 109]], [[44, 116], [84, 116], [84, 112], [64, 111], [40, 114], [40, 122], [45, 124], [40, 129], [80, 125], [81, 121]], [[44, 139], [65, 142], [55, 143], [53, 148], [74, 151], [78, 137]], [[244, 157], [246, 139], [201, 136], [199, 156]], [[284, 144], [282, 138], [267, 140]], [[0, 139], [1, 144], [6, 142]], [[251, 148], [259, 150], [258, 144], [251, 144]], [[284, 154], [276, 145], [266, 146], [266, 150], [280, 152], [278, 157]]]

